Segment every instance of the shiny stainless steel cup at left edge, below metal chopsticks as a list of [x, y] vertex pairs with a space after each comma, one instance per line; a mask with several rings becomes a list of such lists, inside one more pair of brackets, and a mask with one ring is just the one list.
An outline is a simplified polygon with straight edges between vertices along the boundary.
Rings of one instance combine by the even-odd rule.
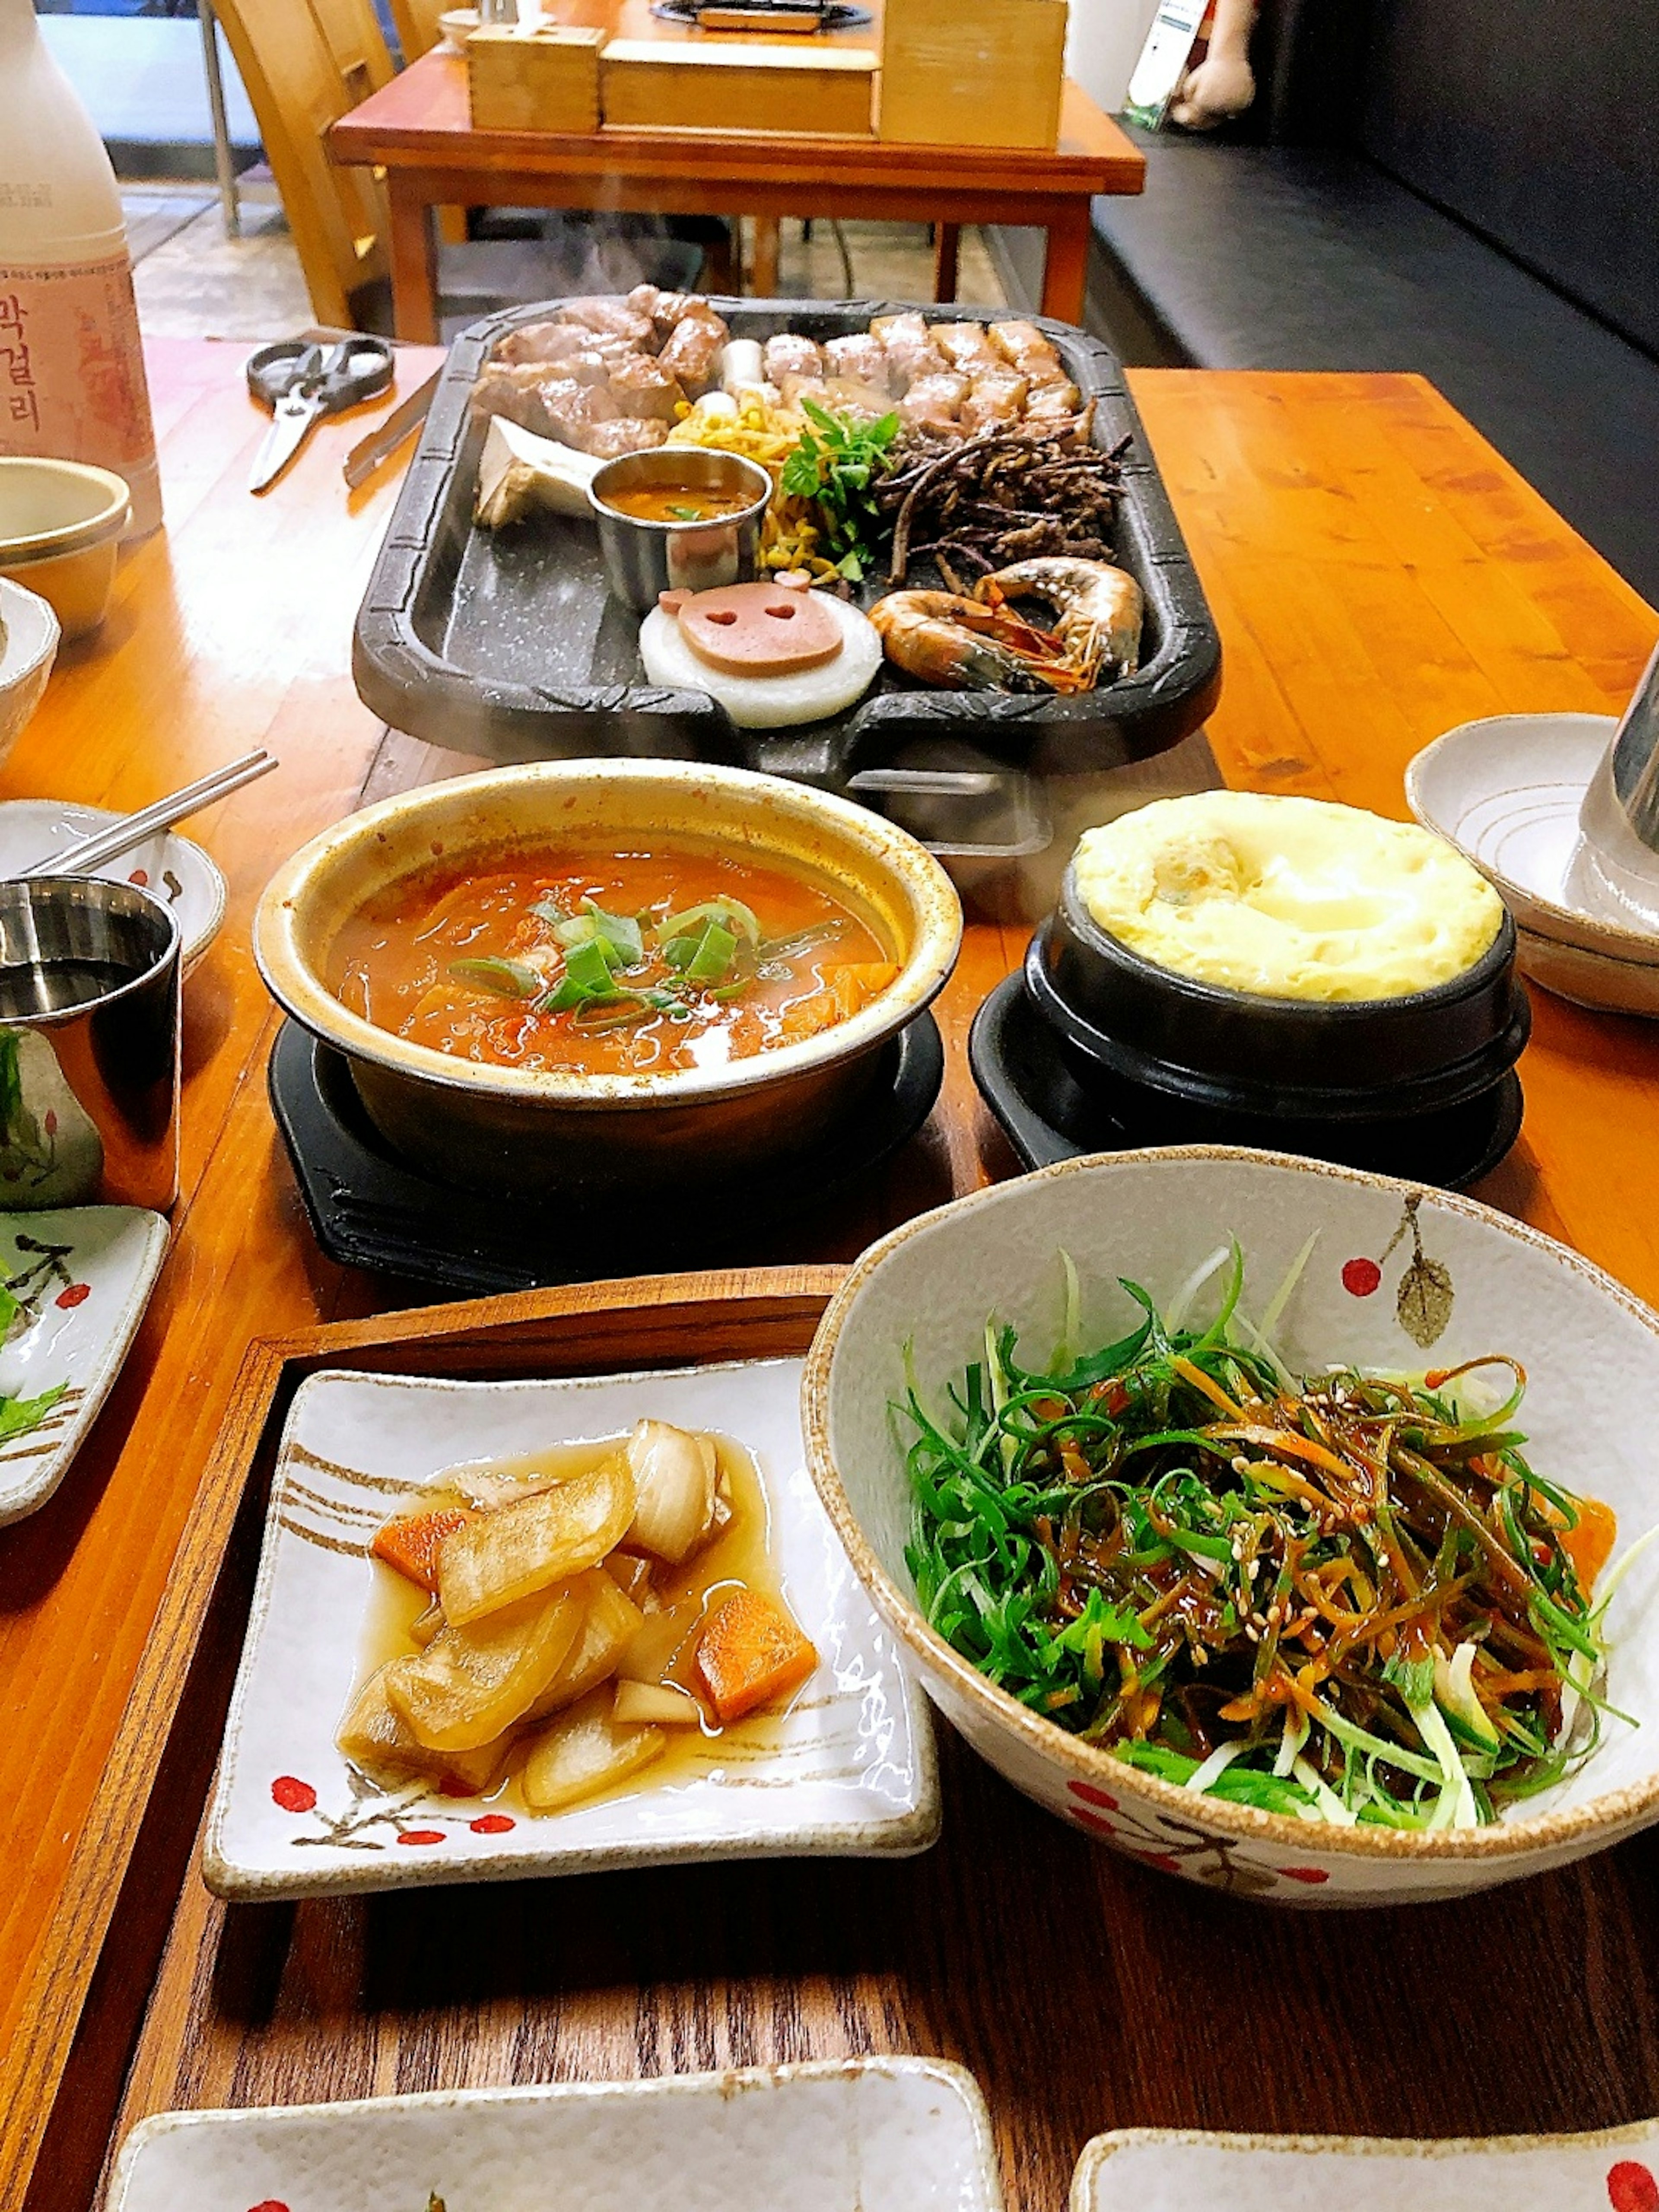
[[126, 883], [0, 885], [0, 1208], [179, 1194], [179, 925]]

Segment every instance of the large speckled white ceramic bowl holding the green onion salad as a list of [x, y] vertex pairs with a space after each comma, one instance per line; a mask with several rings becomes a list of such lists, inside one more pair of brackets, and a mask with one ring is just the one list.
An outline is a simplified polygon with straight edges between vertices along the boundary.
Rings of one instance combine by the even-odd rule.
[[[1287, 1905], [1449, 1898], [1659, 1820], [1655, 1553], [1632, 1564], [1608, 1613], [1608, 1699], [1637, 1725], [1608, 1721], [1593, 1759], [1524, 1818], [1436, 1836], [1292, 1820], [1161, 1783], [1020, 1705], [927, 1626], [905, 1566], [911, 1504], [891, 1413], [905, 1345], [922, 1402], [942, 1413], [949, 1383], [982, 1356], [987, 1316], [1048, 1356], [1062, 1252], [1084, 1281], [1084, 1343], [1110, 1343], [1139, 1312], [1119, 1276], [1168, 1301], [1230, 1234], [1256, 1312], [1316, 1237], [1274, 1329], [1294, 1369], [1422, 1371], [1509, 1352], [1531, 1378], [1524, 1429], [1540, 1473], [1604, 1498], [1621, 1542], [1659, 1520], [1659, 1316], [1575, 1252], [1471, 1199], [1279, 1152], [1188, 1146], [1064, 1161], [872, 1245], [807, 1358], [812, 1475], [929, 1697], [1000, 1774], [1086, 1834], [1188, 1880]], [[1433, 1296], [1411, 1296], [1425, 1287]]]

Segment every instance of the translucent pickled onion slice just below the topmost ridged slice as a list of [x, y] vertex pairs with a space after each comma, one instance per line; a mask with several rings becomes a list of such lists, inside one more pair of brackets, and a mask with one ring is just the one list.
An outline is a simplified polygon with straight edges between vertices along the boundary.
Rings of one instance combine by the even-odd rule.
[[394, 1659], [387, 1699], [431, 1752], [473, 1752], [522, 1721], [582, 1635], [582, 1597], [546, 1590], [440, 1628], [418, 1659]]

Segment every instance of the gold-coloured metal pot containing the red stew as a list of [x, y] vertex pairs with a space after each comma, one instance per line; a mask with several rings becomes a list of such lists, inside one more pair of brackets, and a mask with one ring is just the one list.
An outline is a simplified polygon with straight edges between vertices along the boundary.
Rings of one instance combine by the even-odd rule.
[[[489, 867], [538, 845], [613, 838], [684, 838], [814, 876], [887, 945], [898, 980], [803, 1044], [650, 1075], [451, 1057], [376, 1029], [330, 989], [345, 922], [434, 858]], [[803, 1152], [856, 1108], [883, 1044], [945, 984], [960, 936], [949, 876], [902, 830], [801, 783], [686, 761], [544, 761], [405, 792], [294, 854], [254, 918], [272, 995], [345, 1053], [369, 1119], [398, 1152], [478, 1190], [635, 1197]]]

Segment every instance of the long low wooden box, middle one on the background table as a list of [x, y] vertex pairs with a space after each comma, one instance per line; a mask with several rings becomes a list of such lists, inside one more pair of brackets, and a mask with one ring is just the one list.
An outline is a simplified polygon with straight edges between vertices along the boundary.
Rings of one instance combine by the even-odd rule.
[[613, 38], [599, 64], [606, 124], [872, 137], [876, 55], [803, 38], [730, 44]]

